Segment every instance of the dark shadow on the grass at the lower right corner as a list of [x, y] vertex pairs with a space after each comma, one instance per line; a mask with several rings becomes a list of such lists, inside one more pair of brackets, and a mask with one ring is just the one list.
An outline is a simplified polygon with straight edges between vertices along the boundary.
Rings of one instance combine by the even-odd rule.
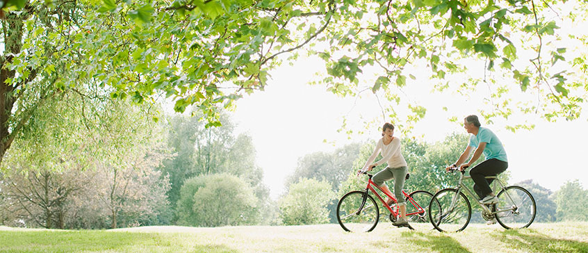
[[510, 247], [525, 252], [588, 252], [588, 243], [551, 238], [534, 229], [505, 230], [492, 236]]

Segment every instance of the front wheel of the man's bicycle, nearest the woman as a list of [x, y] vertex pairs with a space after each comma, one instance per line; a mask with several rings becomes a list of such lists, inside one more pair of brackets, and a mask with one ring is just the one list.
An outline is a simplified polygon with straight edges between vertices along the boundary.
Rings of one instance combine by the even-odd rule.
[[435, 193], [429, 205], [429, 219], [435, 229], [441, 232], [464, 230], [472, 216], [470, 201], [464, 193], [446, 188]]

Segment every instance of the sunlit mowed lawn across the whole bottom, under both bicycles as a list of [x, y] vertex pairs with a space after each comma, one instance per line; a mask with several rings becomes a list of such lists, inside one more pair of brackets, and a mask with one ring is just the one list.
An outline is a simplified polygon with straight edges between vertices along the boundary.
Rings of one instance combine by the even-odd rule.
[[469, 225], [459, 233], [380, 223], [370, 233], [338, 225], [138, 227], [63, 231], [0, 227], [0, 252], [588, 252], [588, 222], [505, 230]]

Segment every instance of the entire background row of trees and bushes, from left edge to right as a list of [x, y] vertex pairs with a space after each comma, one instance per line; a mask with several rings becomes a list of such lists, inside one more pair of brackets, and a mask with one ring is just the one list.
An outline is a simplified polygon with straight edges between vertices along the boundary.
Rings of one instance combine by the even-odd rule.
[[[352, 143], [300, 157], [285, 181], [286, 192], [275, 201], [262, 183], [252, 138], [236, 135], [237, 126], [227, 115], [220, 115], [222, 126], [206, 127], [197, 111], [194, 117], [161, 116], [158, 108], [72, 92], [56, 99], [68, 105], [49, 99], [51, 111], [35, 111], [4, 158], [0, 225], [106, 229], [334, 223], [338, 197], [365, 187], [355, 172], [375, 145]], [[405, 190], [434, 193], [453, 186], [455, 174], [444, 168], [459, 156], [467, 138], [452, 134], [434, 143], [402, 138], [411, 173]], [[501, 177], [509, 180], [509, 172]], [[537, 201], [537, 222], [588, 220], [588, 190], [577, 180], [556, 192], [531, 180], [515, 184]], [[476, 213], [472, 219], [482, 222]]]

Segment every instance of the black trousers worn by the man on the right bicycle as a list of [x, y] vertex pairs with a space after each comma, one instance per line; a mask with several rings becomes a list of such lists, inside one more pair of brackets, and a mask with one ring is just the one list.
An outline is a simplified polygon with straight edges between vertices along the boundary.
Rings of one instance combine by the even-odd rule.
[[480, 199], [492, 193], [490, 183], [494, 179], [485, 179], [484, 177], [494, 176], [505, 172], [508, 163], [492, 158], [476, 165], [470, 170], [470, 176], [474, 181], [474, 191]]

